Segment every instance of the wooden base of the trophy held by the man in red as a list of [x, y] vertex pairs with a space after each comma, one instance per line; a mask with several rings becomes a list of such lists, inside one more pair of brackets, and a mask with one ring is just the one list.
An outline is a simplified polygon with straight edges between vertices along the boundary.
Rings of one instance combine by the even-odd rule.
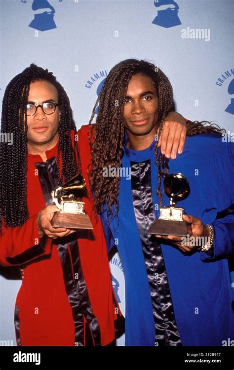
[[55, 212], [51, 225], [53, 228], [65, 228], [65, 229], [85, 229], [92, 230], [93, 225], [87, 214], [83, 213], [62, 213]]

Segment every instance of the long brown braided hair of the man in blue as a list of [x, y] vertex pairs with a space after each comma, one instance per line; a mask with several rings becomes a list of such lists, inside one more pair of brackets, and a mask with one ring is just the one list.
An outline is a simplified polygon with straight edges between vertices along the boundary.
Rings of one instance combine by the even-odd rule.
[[[158, 137], [162, 131], [162, 123], [166, 115], [173, 110], [172, 86], [166, 75], [155, 65], [144, 60], [127, 59], [118, 63], [108, 74], [98, 96], [89, 121], [89, 143], [91, 145], [91, 169], [89, 171], [90, 185], [94, 194], [94, 206], [98, 213], [107, 205], [108, 217], [118, 212], [119, 177], [104, 177], [103, 168], [118, 168], [121, 166], [122, 148], [124, 143], [123, 107], [128, 83], [131, 77], [141, 73], [152, 79], [158, 94]], [[95, 135], [91, 144], [93, 125], [91, 122], [95, 109], [99, 104], [96, 118]], [[209, 126], [204, 126], [209, 124]], [[187, 136], [208, 133], [221, 133], [219, 127], [209, 122], [187, 123]], [[157, 166], [158, 186], [156, 193], [161, 205], [161, 180], [169, 171], [169, 160], [156, 147], [155, 158]], [[115, 207], [115, 212], [113, 211]]]

